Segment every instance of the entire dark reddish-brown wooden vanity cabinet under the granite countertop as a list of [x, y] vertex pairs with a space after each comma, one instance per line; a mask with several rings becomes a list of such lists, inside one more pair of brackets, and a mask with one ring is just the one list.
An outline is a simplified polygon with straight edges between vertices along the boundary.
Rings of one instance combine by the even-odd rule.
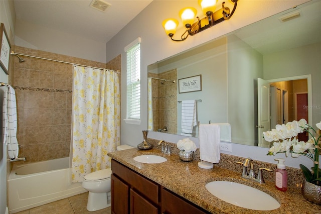
[[111, 213], [210, 213], [114, 159], [111, 171]]

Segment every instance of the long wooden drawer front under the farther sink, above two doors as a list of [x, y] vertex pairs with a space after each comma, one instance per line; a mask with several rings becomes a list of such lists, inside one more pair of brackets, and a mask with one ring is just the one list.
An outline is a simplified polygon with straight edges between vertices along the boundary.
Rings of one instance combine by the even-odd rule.
[[112, 174], [116, 174], [140, 194], [158, 204], [158, 195], [160, 189], [158, 184], [150, 181], [142, 175], [137, 174], [114, 159], [111, 160], [111, 171]]

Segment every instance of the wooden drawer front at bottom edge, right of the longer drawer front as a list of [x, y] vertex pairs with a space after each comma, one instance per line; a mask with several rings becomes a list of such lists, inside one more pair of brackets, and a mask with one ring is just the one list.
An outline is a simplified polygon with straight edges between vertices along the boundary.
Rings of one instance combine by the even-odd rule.
[[192, 202], [182, 198], [166, 188], [162, 188], [162, 212], [168, 214], [193, 213], [205, 214], [210, 213]]

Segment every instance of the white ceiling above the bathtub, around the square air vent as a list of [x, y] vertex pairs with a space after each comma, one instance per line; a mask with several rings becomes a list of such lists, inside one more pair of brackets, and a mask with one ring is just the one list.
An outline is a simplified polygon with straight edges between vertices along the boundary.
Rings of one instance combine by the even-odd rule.
[[101, 12], [91, 0], [14, 0], [16, 19], [107, 43], [152, 0], [103, 0]]

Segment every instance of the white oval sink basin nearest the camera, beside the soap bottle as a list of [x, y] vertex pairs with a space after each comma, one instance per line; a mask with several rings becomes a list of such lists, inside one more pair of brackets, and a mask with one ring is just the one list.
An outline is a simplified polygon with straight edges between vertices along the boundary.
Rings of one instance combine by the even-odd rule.
[[280, 203], [269, 194], [244, 184], [212, 181], [205, 187], [214, 196], [236, 206], [255, 210], [272, 210], [280, 207]]

